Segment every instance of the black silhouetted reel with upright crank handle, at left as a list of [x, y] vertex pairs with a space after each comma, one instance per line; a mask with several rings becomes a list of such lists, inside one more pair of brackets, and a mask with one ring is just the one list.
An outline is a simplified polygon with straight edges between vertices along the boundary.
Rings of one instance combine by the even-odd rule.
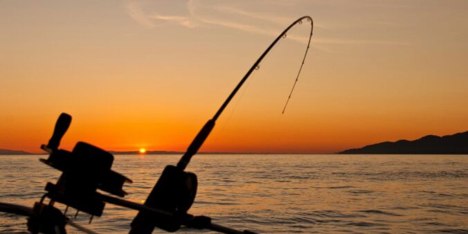
[[105, 201], [98, 189], [111, 195], [124, 197], [127, 177], [111, 170], [114, 156], [109, 152], [84, 142], [78, 142], [71, 152], [59, 150], [58, 146], [71, 123], [71, 116], [62, 113], [55, 123], [51, 140], [41, 148], [50, 155], [39, 159], [43, 163], [62, 171], [57, 183], [47, 183], [45, 197], [75, 208], [90, 215], [101, 216]]

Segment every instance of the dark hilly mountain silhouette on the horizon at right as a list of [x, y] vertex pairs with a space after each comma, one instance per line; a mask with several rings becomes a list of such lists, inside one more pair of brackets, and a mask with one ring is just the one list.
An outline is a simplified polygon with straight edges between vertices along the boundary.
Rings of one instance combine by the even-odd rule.
[[468, 154], [468, 132], [442, 137], [428, 135], [415, 141], [386, 141], [339, 154]]

